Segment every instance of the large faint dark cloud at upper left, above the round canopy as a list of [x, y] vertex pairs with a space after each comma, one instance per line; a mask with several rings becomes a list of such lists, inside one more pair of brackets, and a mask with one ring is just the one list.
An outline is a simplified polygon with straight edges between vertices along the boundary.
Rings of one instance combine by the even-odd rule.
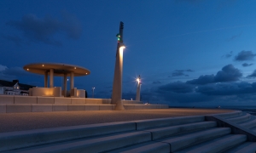
[[[55, 40], [55, 34], [64, 31], [67, 37], [78, 39], [82, 33], [81, 23], [75, 15], [63, 11], [61, 17], [62, 20], [58, 20], [45, 15], [43, 19], [39, 19], [35, 14], [26, 14], [21, 20], [10, 20], [6, 24], [22, 31], [32, 41], [60, 46], [61, 42]], [[9, 38], [15, 40], [15, 37]]]

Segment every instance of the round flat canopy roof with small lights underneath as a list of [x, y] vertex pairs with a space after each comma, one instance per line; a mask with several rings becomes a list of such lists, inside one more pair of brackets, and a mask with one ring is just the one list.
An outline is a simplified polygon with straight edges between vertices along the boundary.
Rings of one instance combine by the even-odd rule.
[[[73, 71], [75, 77], [87, 76], [90, 74], [88, 69], [78, 65], [67, 65], [63, 63], [32, 63], [23, 67], [25, 71], [44, 75], [45, 71], [54, 69], [54, 76], [63, 77], [64, 74], [70, 76]], [[48, 73], [49, 74], [49, 73]]]

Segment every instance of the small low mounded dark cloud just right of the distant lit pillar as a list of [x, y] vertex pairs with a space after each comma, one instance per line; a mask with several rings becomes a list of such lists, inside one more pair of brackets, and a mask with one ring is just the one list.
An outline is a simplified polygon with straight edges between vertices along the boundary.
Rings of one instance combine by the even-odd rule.
[[172, 82], [159, 87], [159, 91], [173, 93], [191, 93], [194, 91], [194, 86], [184, 82]]

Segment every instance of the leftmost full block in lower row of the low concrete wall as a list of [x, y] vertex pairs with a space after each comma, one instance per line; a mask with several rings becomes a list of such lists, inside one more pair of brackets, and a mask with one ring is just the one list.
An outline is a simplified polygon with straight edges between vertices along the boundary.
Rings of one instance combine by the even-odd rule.
[[16, 113], [16, 112], [32, 112], [32, 105], [6, 105], [7, 113]]

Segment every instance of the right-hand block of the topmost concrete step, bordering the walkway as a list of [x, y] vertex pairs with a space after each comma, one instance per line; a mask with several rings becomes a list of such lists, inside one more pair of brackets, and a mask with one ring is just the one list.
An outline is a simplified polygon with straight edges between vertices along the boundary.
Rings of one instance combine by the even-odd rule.
[[137, 130], [155, 128], [155, 127], [169, 127], [174, 125], [187, 124], [191, 122], [205, 121], [205, 116], [181, 116], [181, 117], [169, 117], [160, 119], [138, 120]]

